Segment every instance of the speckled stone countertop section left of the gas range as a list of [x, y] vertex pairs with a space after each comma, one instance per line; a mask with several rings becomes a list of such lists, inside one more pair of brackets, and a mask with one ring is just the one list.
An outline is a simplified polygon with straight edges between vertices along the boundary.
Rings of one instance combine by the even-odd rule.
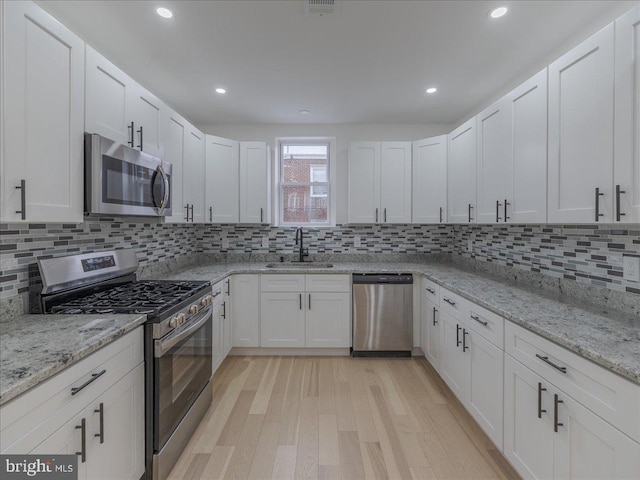
[[0, 405], [122, 337], [146, 315], [20, 315], [0, 322]]

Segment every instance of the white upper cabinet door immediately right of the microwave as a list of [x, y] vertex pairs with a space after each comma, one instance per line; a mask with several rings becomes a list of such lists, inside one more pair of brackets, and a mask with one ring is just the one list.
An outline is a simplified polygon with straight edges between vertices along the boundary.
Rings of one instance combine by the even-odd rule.
[[[184, 201], [185, 175], [184, 154], [185, 139], [188, 133], [187, 121], [176, 112], [169, 112], [165, 127], [165, 160], [171, 162], [171, 216], [165, 217], [167, 223], [187, 221], [186, 202]], [[188, 170], [187, 170], [188, 173]]]

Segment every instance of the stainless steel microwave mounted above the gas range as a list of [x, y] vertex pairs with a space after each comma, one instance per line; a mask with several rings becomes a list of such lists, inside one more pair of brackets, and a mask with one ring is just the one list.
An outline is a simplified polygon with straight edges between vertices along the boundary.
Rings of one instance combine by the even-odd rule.
[[85, 212], [171, 215], [171, 163], [94, 133], [84, 135]]

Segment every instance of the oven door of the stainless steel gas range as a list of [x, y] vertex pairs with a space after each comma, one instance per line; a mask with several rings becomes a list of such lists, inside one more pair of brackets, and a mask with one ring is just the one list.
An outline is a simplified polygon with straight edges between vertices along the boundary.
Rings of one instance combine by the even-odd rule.
[[153, 448], [160, 451], [211, 379], [212, 309], [154, 342]]

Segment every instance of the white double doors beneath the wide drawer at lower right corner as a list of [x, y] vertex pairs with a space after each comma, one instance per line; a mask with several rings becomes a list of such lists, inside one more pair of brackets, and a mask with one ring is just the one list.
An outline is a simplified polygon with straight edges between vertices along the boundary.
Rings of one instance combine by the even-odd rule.
[[524, 478], [640, 478], [640, 444], [505, 356], [504, 454]]

